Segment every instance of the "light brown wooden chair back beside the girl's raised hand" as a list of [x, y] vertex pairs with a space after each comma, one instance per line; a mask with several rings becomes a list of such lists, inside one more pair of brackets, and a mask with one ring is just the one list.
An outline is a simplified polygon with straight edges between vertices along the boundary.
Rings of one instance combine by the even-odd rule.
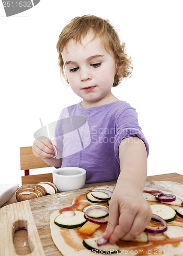
[[24, 176], [21, 177], [21, 183], [36, 184], [41, 181], [49, 181], [53, 183], [52, 173], [29, 175], [30, 169], [51, 167], [46, 164], [41, 158], [33, 154], [32, 146], [20, 147], [20, 169], [24, 170]]

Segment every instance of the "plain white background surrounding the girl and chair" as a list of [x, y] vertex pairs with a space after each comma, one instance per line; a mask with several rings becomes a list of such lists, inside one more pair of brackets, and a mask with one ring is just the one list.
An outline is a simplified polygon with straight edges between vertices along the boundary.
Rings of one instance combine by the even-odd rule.
[[0, 184], [21, 184], [19, 148], [32, 145], [39, 118], [43, 125], [56, 121], [81, 101], [61, 81], [56, 44], [66, 23], [84, 14], [108, 18], [132, 56], [132, 78], [113, 93], [138, 112], [150, 145], [148, 175], [183, 174], [181, 2], [41, 0], [10, 17], [0, 4]]

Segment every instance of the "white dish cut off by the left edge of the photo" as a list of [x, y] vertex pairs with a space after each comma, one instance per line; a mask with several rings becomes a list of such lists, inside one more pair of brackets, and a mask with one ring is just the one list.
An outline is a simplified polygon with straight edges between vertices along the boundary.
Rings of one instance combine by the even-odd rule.
[[18, 187], [19, 184], [0, 184], [0, 207], [13, 197]]

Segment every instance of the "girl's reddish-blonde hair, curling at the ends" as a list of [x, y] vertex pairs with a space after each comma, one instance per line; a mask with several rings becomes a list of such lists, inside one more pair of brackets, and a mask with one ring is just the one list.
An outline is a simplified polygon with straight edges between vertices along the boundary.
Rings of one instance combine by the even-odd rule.
[[132, 74], [132, 62], [125, 53], [125, 43], [121, 44], [119, 36], [109, 20], [102, 19], [94, 15], [84, 15], [73, 18], [62, 30], [57, 42], [57, 51], [59, 53], [59, 65], [61, 74], [68, 82], [64, 71], [64, 62], [62, 59], [62, 51], [67, 46], [70, 39], [76, 42], [82, 41], [87, 33], [91, 31], [94, 34], [93, 39], [100, 37], [104, 47], [108, 53], [112, 53], [117, 63], [117, 71], [114, 77], [113, 87], [118, 86], [125, 77]]

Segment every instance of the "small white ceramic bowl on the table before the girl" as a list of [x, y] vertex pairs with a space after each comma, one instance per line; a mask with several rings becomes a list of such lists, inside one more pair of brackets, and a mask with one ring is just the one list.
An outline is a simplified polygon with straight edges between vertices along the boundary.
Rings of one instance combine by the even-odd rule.
[[86, 170], [79, 167], [61, 167], [53, 171], [53, 180], [60, 192], [83, 188]]

